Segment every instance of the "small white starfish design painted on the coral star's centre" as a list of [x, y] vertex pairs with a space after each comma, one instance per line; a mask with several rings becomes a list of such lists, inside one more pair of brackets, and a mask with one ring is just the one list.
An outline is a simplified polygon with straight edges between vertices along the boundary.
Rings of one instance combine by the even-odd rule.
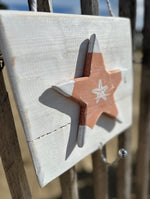
[[106, 98], [106, 94], [105, 94], [105, 91], [108, 89], [108, 86], [102, 86], [102, 81], [99, 80], [99, 83], [98, 83], [98, 88], [95, 88], [92, 90], [92, 93], [96, 94], [97, 95], [97, 98], [96, 98], [96, 103], [99, 102], [99, 100], [102, 98], [103, 100], [107, 100]]

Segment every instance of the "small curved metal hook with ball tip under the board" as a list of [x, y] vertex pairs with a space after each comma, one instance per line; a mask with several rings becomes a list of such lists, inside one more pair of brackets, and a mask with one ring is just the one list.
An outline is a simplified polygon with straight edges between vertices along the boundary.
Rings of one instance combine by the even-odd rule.
[[106, 165], [114, 165], [114, 164], [117, 163], [120, 159], [126, 158], [126, 156], [128, 155], [128, 152], [127, 152], [125, 149], [123, 149], [123, 148], [122, 148], [122, 149], [119, 149], [117, 158], [116, 158], [112, 163], [109, 163], [109, 162], [107, 162], [106, 157], [105, 157], [104, 154], [103, 154], [103, 144], [100, 143], [100, 155], [101, 155], [101, 158], [102, 158], [103, 162], [104, 162]]

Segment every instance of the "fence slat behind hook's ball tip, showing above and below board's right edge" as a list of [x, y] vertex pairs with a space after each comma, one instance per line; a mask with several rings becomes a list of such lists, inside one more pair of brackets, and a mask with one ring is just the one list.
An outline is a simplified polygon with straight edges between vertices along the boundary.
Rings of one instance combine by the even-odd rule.
[[[120, 0], [119, 16], [128, 17], [131, 20], [132, 46], [133, 53], [135, 49], [134, 35], [136, 23], [136, 0]], [[118, 199], [129, 199], [131, 197], [131, 128], [119, 136], [119, 148], [125, 148], [128, 151], [128, 157], [118, 163], [117, 168], [117, 195]]]

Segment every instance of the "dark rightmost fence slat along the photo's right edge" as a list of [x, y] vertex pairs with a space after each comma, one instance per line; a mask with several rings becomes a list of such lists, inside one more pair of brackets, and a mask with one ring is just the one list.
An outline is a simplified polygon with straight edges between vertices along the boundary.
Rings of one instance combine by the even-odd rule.
[[148, 199], [150, 166], [150, 1], [145, 0], [136, 198]]

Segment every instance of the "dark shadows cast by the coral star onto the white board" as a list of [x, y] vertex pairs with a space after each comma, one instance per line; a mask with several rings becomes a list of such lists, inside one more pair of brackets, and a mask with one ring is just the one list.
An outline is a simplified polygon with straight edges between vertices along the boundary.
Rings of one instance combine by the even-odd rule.
[[[74, 77], [72, 78], [83, 76], [85, 59], [86, 59], [86, 54], [88, 50], [88, 43], [89, 43], [89, 40], [86, 39], [80, 45], [78, 58], [77, 58], [77, 64], [76, 64], [76, 70], [75, 70]], [[44, 93], [42, 93], [41, 96], [39, 97], [39, 101], [45, 106], [51, 107], [53, 109], [56, 109], [62, 113], [69, 115], [71, 118], [70, 135], [69, 135], [69, 140], [68, 140], [67, 149], [66, 149], [66, 156], [65, 156], [65, 159], [67, 160], [67, 158], [72, 153], [74, 147], [76, 146], [77, 132], [78, 132], [77, 121], [79, 120], [79, 116], [75, 118], [73, 110], [78, 110], [80, 114], [80, 106], [79, 104], [59, 94], [52, 88], [45, 90]], [[107, 125], [107, 121], [109, 125]], [[98, 120], [97, 125], [103, 127], [108, 132], [110, 132], [115, 126], [115, 120], [103, 114], [103, 116], [100, 117], [100, 119]]]

